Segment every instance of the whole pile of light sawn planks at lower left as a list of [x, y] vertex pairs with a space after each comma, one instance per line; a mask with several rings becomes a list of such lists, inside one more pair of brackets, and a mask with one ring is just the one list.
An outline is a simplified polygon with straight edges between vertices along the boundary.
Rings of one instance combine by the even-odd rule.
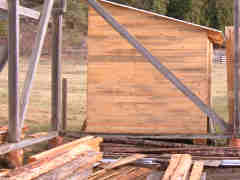
[[89, 136], [33, 155], [27, 165], [4, 172], [1, 179], [87, 179], [92, 173], [94, 164], [102, 159], [101, 142], [102, 138]]

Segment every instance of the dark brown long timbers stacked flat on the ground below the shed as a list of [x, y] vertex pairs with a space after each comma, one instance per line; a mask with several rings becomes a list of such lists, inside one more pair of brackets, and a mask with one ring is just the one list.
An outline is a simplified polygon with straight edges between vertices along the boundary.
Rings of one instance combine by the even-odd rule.
[[240, 149], [235, 147], [212, 147], [127, 137], [104, 138], [101, 151], [107, 158], [125, 157], [135, 153], [147, 154], [151, 158], [160, 158], [166, 154], [191, 154], [194, 157], [207, 157], [208, 159], [240, 157]]

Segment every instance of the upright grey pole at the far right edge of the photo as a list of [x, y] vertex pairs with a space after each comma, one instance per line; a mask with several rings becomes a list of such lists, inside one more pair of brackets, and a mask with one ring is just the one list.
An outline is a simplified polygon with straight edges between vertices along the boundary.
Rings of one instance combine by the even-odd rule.
[[239, 130], [239, 0], [234, 1], [234, 119], [233, 134]]

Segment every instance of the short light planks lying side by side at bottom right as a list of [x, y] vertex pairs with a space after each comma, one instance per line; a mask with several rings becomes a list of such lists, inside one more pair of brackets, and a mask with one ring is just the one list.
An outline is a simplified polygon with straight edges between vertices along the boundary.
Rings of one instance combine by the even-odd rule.
[[203, 168], [203, 161], [192, 164], [191, 155], [175, 154], [172, 155], [162, 180], [201, 180]]

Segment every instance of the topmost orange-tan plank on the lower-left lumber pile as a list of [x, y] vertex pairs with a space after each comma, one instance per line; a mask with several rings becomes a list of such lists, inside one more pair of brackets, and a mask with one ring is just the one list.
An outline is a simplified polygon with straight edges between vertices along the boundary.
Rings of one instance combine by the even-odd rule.
[[71, 150], [72, 148], [74, 148], [75, 146], [78, 146], [80, 144], [88, 145], [93, 150], [99, 152], [100, 151], [99, 145], [102, 141], [103, 141], [102, 138], [94, 138], [93, 136], [88, 136], [85, 138], [75, 140], [73, 142], [69, 142], [67, 144], [63, 144], [56, 148], [50, 149], [48, 151], [33, 155], [33, 156], [29, 157], [28, 161], [34, 162], [34, 161], [39, 161], [39, 160], [46, 159], [46, 158], [53, 158], [53, 157], [58, 156], [59, 154], [68, 152], [69, 150]]

